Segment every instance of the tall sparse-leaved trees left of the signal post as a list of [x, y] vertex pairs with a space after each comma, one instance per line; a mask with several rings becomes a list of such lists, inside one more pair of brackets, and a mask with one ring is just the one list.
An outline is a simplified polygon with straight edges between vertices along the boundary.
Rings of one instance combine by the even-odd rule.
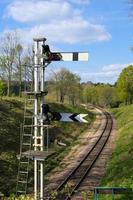
[[[0, 94], [10, 96], [17, 88], [21, 96], [26, 66], [31, 66], [33, 55], [31, 47], [24, 52], [17, 32], [6, 32], [0, 38]], [[29, 78], [29, 77], [28, 77]], [[14, 89], [15, 90], [15, 89]]]

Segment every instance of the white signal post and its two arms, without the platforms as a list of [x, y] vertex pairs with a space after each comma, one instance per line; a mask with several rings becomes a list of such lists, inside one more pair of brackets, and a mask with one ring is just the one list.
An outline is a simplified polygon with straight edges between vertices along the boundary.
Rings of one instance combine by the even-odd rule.
[[[88, 53], [85, 52], [51, 52], [49, 45], [45, 44], [46, 38], [36, 38], [34, 39], [35, 43], [35, 52], [34, 52], [34, 92], [38, 92], [38, 90], [44, 91], [44, 73], [45, 68], [47, 65], [52, 61], [88, 61]], [[39, 55], [40, 54], [40, 55]], [[39, 63], [40, 62], [40, 63]], [[39, 77], [39, 69], [38, 66], [40, 65], [40, 76], [41, 76], [41, 88], [39, 88], [38, 83], [38, 77]], [[37, 108], [40, 106], [38, 96], [35, 96], [35, 109], [34, 109], [34, 126], [37, 126], [38, 123], [38, 111]], [[49, 124], [49, 106], [45, 104], [44, 95], [41, 96], [41, 107], [40, 107], [40, 113], [41, 115], [44, 115], [45, 121], [47, 124]], [[83, 119], [86, 114], [73, 114], [73, 113], [53, 113], [52, 119], [59, 120], [59, 121], [78, 121], [78, 122], [85, 122], [87, 123], [87, 120]], [[44, 120], [43, 118], [40, 118], [40, 133], [38, 134], [38, 129], [34, 128], [34, 144], [37, 144], [37, 138], [38, 136], [40, 139], [41, 149], [40, 151], [44, 151], [44, 133], [43, 133], [43, 127], [44, 127]], [[34, 147], [34, 151], [37, 150], [37, 147]], [[40, 165], [40, 177], [38, 176], [38, 165]], [[34, 200], [38, 200], [38, 193], [40, 193], [40, 199], [44, 199], [43, 194], [43, 180], [44, 180], [44, 172], [43, 172], [43, 162], [40, 162], [37, 160], [37, 158], [34, 159]], [[40, 180], [38, 183], [38, 179]], [[40, 190], [40, 191], [39, 191]]]

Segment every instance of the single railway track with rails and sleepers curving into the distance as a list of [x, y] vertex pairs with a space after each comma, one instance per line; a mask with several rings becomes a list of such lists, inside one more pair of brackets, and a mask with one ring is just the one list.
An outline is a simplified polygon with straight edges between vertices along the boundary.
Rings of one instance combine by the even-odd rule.
[[79, 162], [78, 166], [74, 168], [71, 173], [62, 181], [62, 183], [56, 189], [58, 200], [69, 200], [80, 188], [81, 183], [85, 177], [89, 174], [94, 167], [97, 159], [100, 157], [102, 150], [104, 149], [109, 136], [112, 131], [113, 120], [108, 112], [103, 111], [106, 118], [106, 123], [101, 131], [100, 136], [93, 144], [91, 149]]

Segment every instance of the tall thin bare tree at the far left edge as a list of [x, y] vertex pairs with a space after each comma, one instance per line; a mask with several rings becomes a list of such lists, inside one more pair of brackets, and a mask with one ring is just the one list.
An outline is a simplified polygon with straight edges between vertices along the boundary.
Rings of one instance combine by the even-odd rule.
[[18, 43], [18, 37], [16, 32], [8, 32], [1, 38], [0, 45], [0, 67], [5, 74], [7, 80], [7, 95], [10, 96], [11, 79], [13, 74], [13, 64], [16, 55], [16, 46]]

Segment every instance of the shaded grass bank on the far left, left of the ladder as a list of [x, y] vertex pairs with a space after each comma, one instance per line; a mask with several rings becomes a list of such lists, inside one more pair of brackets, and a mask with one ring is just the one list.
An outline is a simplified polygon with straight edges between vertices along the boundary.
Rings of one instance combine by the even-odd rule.
[[16, 99], [0, 101], [0, 191], [9, 194], [16, 186], [17, 158], [19, 152], [20, 122], [23, 103]]

